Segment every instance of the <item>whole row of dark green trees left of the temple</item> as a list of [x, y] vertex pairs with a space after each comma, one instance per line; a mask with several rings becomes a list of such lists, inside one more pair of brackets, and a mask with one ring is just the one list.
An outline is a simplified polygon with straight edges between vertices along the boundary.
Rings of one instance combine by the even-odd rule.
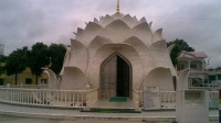
[[15, 83], [18, 74], [30, 67], [33, 75], [41, 76], [41, 67], [49, 67], [55, 74], [60, 74], [64, 60], [66, 49], [59, 44], [51, 44], [49, 47], [43, 43], [36, 43], [29, 51], [28, 47], [12, 52], [9, 57], [0, 56], [0, 62], [6, 63], [6, 67], [0, 65], [0, 75], [7, 69], [7, 75], [15, 75]]

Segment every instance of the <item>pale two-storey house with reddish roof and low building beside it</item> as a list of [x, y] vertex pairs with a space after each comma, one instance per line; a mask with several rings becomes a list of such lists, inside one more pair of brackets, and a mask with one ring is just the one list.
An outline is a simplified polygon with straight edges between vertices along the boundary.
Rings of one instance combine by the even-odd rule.
[[203, 52], [182, 51], [178, 57], [177, 71], [191, 68], [189, 74], [189, 88], [209, 87], [215, 88], [221, 85], [221, 70], [204, 69], [208, 55]]

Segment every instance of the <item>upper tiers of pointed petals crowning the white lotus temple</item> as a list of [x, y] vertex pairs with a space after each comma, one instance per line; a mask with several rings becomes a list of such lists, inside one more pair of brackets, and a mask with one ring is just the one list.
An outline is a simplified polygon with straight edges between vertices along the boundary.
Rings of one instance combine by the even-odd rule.
[[136, 16], [129, 14], [106, 14], [99, 20], [95, 18], [93, 22], [88, 22], [84, 30], [77, 29], [76, 41], [88, 47], [96, 36], [103, 36], [113, 43], [123, 43], [128, 37], [136, 36], [146, 46], [150, 46], [152, 42], [157, 42], [156, 40], [162, 40], [161, 30], [152, 33], [150, 25], [151, 23], [148, 24], [145, 18], [137, 21]]

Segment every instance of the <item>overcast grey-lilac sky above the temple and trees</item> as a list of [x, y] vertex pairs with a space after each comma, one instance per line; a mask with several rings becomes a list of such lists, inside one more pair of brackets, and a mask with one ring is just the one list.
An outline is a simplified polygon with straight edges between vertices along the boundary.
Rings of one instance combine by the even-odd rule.
[[[0, 0], [0, 44], [4, 55], [36, 42], [71, 44], [85, 22], [114, 14], [117, 0]], [[185, 40], [221, 66], [221, 0], [120, 0], [120, 12], [152, 21], [169, 42]]]

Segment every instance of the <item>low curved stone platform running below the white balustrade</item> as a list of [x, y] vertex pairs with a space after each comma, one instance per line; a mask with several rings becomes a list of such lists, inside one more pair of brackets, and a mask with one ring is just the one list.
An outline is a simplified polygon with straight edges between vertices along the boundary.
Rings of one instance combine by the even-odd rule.
[[[0, 114], [15, 115], [24, 118], [42, 118], [57, 120], [91, 120], [91, 121], [152, 121], [168, 122], [175, 121], [175, 111], [143, 111], [141, 113], [98, 113], [81, 112], [73, 109], [43, 109], [0, 103]], [[218, 110], [210, 110], [210, 123], [218, 122]]]

